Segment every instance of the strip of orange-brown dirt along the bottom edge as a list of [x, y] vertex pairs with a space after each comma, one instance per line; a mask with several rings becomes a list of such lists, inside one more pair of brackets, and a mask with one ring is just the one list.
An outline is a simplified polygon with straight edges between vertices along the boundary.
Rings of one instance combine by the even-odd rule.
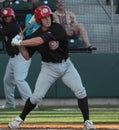
[[[119, 124], [95, 124], [96, 130], [119, 130]], [[83, 130], [83, 124], [23, 124], [17, 130]], [[10, 130], [0, 125], [0, 130]]]

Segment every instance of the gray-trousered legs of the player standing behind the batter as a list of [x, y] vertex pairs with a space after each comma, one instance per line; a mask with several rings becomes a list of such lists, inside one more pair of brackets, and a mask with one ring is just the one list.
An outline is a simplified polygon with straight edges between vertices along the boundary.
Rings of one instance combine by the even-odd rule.
[[31, 96], [31, 89], [25, 81], [30, 63], [31, 60], [26, 61], [21, 54], [9, 59], [4, 76], [5, 108], [16, 107], [15, 86], [17, 86], [24, 102]]

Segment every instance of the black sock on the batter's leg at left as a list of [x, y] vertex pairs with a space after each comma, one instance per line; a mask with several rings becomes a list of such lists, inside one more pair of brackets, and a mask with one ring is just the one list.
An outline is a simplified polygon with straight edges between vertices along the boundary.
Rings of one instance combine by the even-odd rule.
[[24, 121], [26, 116], [36, 107], [36, 104], [32, 104], [30, 98], [27, 99], [24, 109], [20, 114], [21, 119]]

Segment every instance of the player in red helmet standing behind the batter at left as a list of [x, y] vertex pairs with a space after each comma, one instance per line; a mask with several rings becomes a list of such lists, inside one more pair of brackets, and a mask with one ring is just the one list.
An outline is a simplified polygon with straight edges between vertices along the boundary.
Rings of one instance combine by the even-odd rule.
[[25, 60], [19, 52], [17, 46], [11, 45], [11, 40], [20, 32], [20, 26], [16, 21], [15, 13], [12, 8], [3, 8], [1, 10], [0, 35], [5, 36], [6, 51], [9, 55], [9, 61], [4, 76], [4, 92], [6, 97], [5, 105], [1, 108], [16, 108], [15, 102], [15, 86], [20, 92], [21, 98], [25, 102], [32, 94], [31, 89], [26, 82], [26, 76], [31, 63], [31, 59]]

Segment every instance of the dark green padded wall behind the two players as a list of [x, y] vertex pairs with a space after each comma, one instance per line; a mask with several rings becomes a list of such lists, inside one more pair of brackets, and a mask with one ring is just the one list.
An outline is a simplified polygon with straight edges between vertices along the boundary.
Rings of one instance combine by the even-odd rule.
[[[71, 53], [71, 60], [81, 75], [89, 97], [119, 97], [119, 54]], [[40, 55], [32, 58], [27, 81], [32, 90], [40, 71]], [[7, 54], [0, 54], [0, 98], [4, 98], [3, 76]], [[16, 89], [16, 97], [19, 97]], [[72, 98], [73, 93], [58, 80], [48, 91], [47, 98]]]

